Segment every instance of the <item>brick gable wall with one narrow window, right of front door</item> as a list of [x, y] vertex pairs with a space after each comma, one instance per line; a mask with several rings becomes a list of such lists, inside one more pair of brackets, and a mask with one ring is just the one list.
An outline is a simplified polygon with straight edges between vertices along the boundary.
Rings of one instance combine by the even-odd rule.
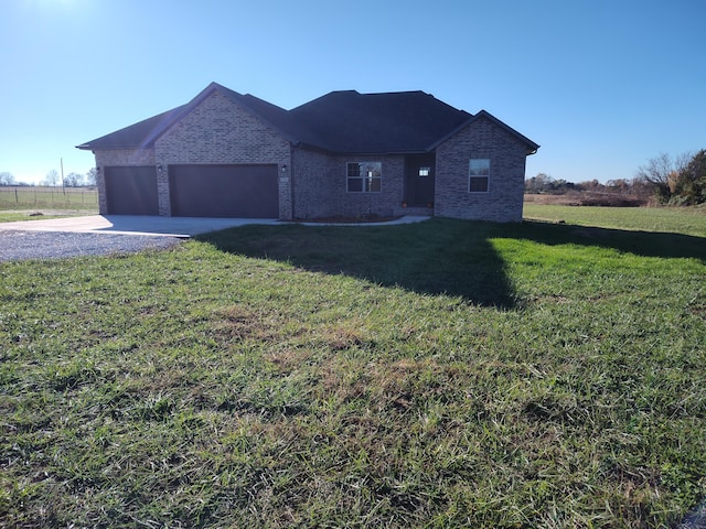
[[[527, 147], [480, 117], [437, 148], [435, 215], [522, 222]], [[488, 193], [469, 193], [469, 160], [490, 159]]]

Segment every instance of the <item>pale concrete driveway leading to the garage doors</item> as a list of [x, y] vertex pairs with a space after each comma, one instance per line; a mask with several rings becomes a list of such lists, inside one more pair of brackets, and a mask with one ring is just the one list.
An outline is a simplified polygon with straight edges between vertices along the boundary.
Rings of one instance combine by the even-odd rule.
[[150, 217], [138, 215], [88, 215], [0, 223], [0, 231], [64, 231], [119, 234], [164, 237], [192, 237], [247, 224], [276, 224], [275, 218], [195, 218]]

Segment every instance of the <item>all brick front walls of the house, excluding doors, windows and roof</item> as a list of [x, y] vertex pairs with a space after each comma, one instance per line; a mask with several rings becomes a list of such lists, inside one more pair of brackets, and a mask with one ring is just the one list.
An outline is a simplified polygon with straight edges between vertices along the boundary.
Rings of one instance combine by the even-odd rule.
[[[274, 127], [213, 91], [156, 142], [141, 150], [96, 151], [100, 213], [107, 213], [105, 168], [161, 165], [157, 173], [159, 214], [171, 215], [170, 164], [276, 163], [279, 218], [413, 214], [403, 207], [404, 155], [328, 155], [292, 148]], [[488, 193], [469, 193], [469, 159], [489, 158]], [[479, 117], [436, 150], [434, 214], [496, 222], [522, 220], [526, 144], [493, 120]], [[349, 162], [382, 162], [379, 193], [349, 193]], [[286, 171], [282, 171], [284, 166]], [[430, 209], [425, 209], [430, 213]]]

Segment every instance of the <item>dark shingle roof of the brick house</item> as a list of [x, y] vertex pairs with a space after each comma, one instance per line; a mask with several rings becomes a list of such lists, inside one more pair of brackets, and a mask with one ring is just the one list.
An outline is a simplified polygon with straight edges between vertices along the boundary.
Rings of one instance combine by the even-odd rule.
[[[252, 95], [242, 95], [211, 83], [186, 105], [78, 145], [78, 149], [136, 149], [151, 147], [172, 125], [217, 90], [270, 123], [293, 143], [333, 153], [425, 152], [434, 149], [474, 119], [424, 91], [359, 94], [332, 91], [285, 110]], [[523, 141], [538, 145], [488, 112]]]

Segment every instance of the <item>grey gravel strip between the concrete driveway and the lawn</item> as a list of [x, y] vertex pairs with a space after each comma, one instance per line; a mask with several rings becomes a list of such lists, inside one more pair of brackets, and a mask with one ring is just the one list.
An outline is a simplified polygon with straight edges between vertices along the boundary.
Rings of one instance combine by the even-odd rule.
[[0, 261], [136, 252], [169, 248], [181, 240], [148, 235], [0, 230]]

